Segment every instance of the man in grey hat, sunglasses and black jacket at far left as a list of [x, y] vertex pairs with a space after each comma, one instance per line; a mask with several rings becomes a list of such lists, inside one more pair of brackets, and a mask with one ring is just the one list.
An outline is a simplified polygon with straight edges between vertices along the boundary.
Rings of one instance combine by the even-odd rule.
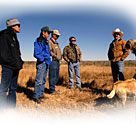
[[23, 65], [16, 35], [20, 32], [20, 22], [12, 18], [8, 19], [6, 24], [7, 29], [0, 32], [0, 65], [2, 66], [0, 106], [16, 107], [17, 80]]

